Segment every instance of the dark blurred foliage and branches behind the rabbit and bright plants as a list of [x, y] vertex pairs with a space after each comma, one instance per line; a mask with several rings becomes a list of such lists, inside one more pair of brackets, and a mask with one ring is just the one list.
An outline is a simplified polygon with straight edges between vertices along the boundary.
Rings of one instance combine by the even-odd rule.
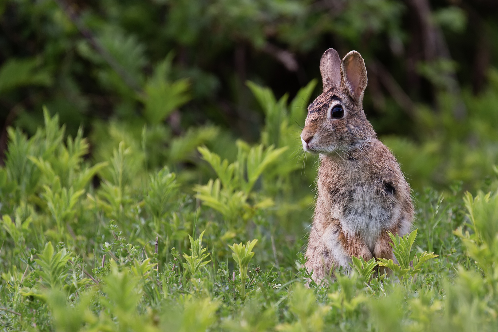
[[204, 183], [196, 146], [232, 158], [268, 121], [247, 81], [294, 98], [333, 47], [364, 56], [365, 111], [412, 186], [475, 189], [498, 161], [497, 15], [493, 0], [3, 0], [1, 158], [7, 127], [34, 134], [46, 106], [66, 134], [83, 125], [88, 158], [145, 144], [149, 168]]

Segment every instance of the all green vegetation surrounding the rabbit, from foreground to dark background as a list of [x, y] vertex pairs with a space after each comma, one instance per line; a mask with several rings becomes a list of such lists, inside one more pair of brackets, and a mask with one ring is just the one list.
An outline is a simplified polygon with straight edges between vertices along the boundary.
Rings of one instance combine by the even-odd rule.
[[[1, 2], [2, 331], [497, 331], [494, 2]], [[328, 47], [416, 220], [306, 287]]]

